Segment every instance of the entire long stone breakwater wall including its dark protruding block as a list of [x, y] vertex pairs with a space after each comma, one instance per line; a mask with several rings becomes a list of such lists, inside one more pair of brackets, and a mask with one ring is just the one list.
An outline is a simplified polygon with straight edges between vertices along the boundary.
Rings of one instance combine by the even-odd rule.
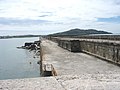
[[85, 52], [107, 61], [120, 64], [120, 43], [109, 40], [90, 40], [83, 38], [47, 37], [71, 52]]

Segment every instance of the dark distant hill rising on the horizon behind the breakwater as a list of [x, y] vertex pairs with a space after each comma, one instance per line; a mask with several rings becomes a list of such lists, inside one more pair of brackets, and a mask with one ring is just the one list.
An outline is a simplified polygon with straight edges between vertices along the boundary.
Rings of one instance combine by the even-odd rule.
[[60, 33], [55, 33], [55, 34], [51, 34], [52, 36], [78, 36], [78, 35], [89, 35], [89, 34], [112, 34], [110, 32], [106, 32], [106, 31], [98, 31], [95, 29], [71, 29], [69, 31], [65, 31], [65, 32], [60, 32]]

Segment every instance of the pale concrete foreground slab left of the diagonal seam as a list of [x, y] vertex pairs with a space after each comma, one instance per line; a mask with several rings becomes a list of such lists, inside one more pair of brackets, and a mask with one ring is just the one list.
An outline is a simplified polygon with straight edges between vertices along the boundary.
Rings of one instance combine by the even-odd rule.
[[0, 80], [0, 90], [64, 90], [54, 77]]

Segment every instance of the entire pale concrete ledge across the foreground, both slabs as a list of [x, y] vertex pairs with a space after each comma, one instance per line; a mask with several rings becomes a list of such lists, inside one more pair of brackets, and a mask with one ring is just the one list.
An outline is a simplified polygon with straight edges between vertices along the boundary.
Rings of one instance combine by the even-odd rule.
[[0, 80], [0, 90], [120, 90], [120, 74], [62, 75]]

